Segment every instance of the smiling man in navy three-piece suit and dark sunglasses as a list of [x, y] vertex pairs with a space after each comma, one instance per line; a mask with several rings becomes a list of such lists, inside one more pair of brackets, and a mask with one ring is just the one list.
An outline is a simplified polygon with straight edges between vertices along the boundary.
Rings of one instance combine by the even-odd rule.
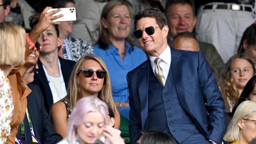
[[141, 130], [168, 133], [179, 144], [221, 144], [226, 110], [202, 53], [170, 48], [158, 9], [139, 11], [134, 23], [149, 58], [127, 74], [131, 144]]

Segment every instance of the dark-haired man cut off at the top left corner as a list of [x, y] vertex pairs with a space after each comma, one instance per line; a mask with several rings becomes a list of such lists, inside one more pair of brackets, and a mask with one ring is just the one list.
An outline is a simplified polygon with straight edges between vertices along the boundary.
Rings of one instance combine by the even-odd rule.
[[4, 22], [6, 16], [10, 12], [10, 0], [0, 0], [0, 22]]

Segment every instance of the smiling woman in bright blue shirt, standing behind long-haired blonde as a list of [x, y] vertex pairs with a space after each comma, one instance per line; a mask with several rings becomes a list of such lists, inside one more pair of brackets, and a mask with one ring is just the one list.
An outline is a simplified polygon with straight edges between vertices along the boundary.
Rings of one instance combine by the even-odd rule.
[[99, 37], [94, 54], [106, 63], [111, 79], [113, 99], [120, 114], [129, 119], [129, 91], [126, 74], [143, 63], [147, 56], [132, 45], [131, 4], [126, 0], [111, 0], [102, 9]]

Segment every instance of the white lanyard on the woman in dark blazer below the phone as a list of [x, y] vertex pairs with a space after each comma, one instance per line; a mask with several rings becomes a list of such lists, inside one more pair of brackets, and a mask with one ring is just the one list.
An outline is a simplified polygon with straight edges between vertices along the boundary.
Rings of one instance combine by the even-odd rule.
[[[66, 95], [67, 95], [67, 91], [66, 91], [65, 82], [64, 82], [64, 79], [63, 79], [63, 75], [62, 75], [61, 65], [60, 65], [59, 59], [58, 59], [58, 64], [59, 64], [59, 74], [60, 74], [60, 79], [61, 79], [61, 90], [62, 90], [63, 96], [66, 96]], [[44, 69], [44, 71], [45, 71], [46, 78], [47, 78], [47, 80], [48, 80], [50, 89], [51, 89], [51, 91], [52, 91], [52, 97], [53, 97], [53, 98], [56, 98], [57, 94], [55, 94], [55, 92], [54, 92], [54, 86], [53, 86], [53, 84], [52, 84], [51, 81], [50, 81], [49, 75], [48, 75], [48, 73], [47, 73], [47, 71], [46, 71], [44, 65], [43, 65], [43, 69]], [[58, 101], [58, 100], [57, 100], [57, 101]]]

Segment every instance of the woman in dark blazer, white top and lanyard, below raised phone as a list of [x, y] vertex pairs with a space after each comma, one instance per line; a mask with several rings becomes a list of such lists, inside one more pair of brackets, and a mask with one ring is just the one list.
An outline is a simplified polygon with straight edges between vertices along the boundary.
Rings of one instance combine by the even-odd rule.
[[[34, 15], [30, 18], [32, 29], [35, 28], [40, 17]], [[67, 95], [70, 73], [76, 62], [58, 56], [60, 38], [56, 24], [51, 24], [39, 35], [37, 44], [41, 45], [41, 51], [37, 62], [39, 68], [35, 72], [33, 83], [40, 88], [46, 111], [49, 113], [51, 105]]]

